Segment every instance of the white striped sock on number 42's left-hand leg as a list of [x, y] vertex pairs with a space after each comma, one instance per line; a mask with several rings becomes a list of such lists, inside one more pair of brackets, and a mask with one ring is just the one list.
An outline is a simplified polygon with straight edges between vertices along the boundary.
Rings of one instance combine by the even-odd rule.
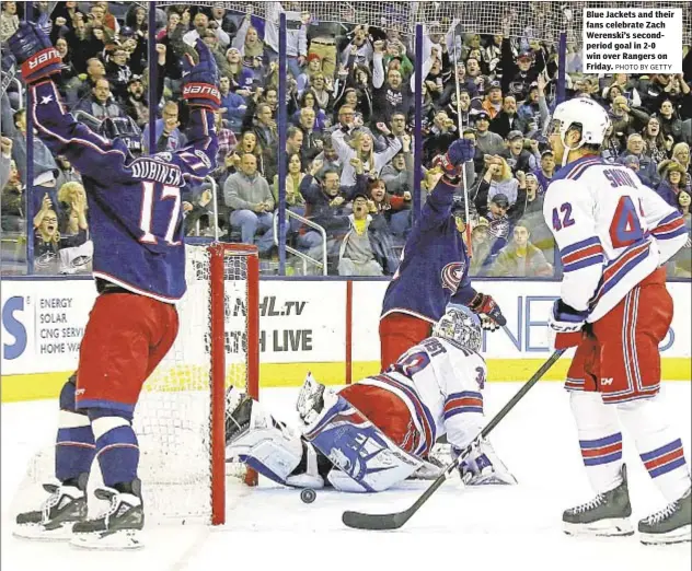
[[622, 481], [622, 433], [615, 409], [599, 393], [581, 391], [570, 393], [569, 404], [591, 488], [596, 493], [616, 488]]

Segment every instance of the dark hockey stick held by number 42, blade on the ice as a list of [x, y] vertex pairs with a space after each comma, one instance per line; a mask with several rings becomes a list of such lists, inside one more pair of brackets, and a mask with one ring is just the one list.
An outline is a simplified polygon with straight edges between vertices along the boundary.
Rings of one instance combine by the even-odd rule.
[[557, 361], [562, 354], [565, 352], [565, 349], [557, 349], [553, 352], [552, 356], [545, 361], [541, 368], [533, 374], [533, 376], [524, 383], [524, 385], [519, 389], [519, 392], [507, 403], [503, 409], [493, 417], [493, 419], [486, 424], [486, 427], [481, 431], [481, 433], [475, 438], [475, 440], [469, 444], [459, 456], [447, 466], [443, 471], [437, 477], [437, 479], [428, 487], [427, 490], [423, 492], [420, 498], [418, 498], [411, 508], [404, 510], [403, 512], [396, 513], [387, 513], [387, 514], [373, 514], [373, 513], [360, 513], [360, 512], [351, 512], [346, 511], [342, 515], [342, 521], [348, 527], [353, 527], [355, 529], [399, 529], [403, 526], [413, 515], [420, 509], [420, 506], [428, 501], [430, 496], [432, 496], [436, 490], [445, 483], [447, 476], [449, 476], [452, 471], [457, 469], [459, 464], [471, 453], [473, 448], [473, 444], [481, 439], [486, 438], [493, 429], [499, 423], [500, 420], [507, 416], [507, 413], [515, 408], [517, 403], [523, 398], [523, 396], [531, 389], [533, 385], [535, 385], [541, 377], [549, 371], [551, 366]]

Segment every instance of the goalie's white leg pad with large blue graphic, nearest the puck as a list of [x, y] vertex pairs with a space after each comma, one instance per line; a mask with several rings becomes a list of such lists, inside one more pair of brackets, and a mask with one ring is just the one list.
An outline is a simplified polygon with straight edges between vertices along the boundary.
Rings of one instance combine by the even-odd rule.
[[324, 408], [303, 436], [343, 473], [332, 470], [327, 477], [337, 490], [387, 490], [422, 466], [420, 459], [392, 443], [348, 400], [330, 391], [322, 396]]

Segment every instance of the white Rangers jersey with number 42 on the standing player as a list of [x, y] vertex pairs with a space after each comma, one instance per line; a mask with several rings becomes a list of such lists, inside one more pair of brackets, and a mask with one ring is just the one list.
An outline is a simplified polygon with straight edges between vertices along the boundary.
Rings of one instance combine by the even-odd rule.
[[685, 243], [679, 212], [630, 168], [579, 159], [553, 177], [543, 202], [562, 257], [561, 298], [600, 319]]

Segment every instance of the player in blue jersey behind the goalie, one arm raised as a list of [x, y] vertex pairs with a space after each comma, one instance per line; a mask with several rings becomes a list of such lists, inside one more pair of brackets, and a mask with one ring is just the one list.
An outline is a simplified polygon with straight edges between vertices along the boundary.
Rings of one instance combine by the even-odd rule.
[[507, 321], [491, 295], [476, 292], [469, 279], [463, 243], [463, 208], [454, 201], [461, 168], [473, 159], [469, 140], [454, 141], [440, 166], [443, 175], [423, 208], [406, 241], [402, 261], [382, 302], [380, 348], [382, 371], [411, 347], [430, 335], [448, 303], [468, 306], [495, 330]]

